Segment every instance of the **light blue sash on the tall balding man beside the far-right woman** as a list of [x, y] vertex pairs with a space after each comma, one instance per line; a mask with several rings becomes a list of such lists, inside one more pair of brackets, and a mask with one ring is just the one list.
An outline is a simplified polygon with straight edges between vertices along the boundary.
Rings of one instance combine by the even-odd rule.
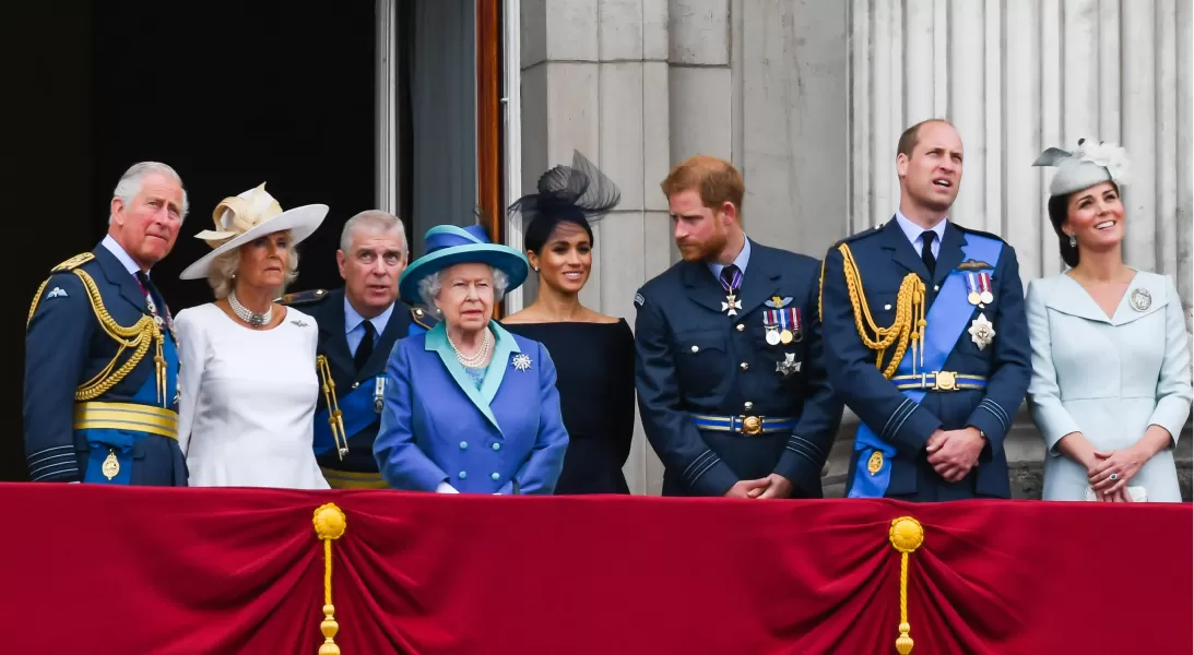
[[[962, 261], [989, 261], [992, 262], [993, 270], [1002, 251], [1003, 242], [998, 239], [967, 234], [966, 245], [962, 246]], [[966, 323], [974, 314], [974, 305], [966, 299], [966, 272], [956, 268], [950, 271], [925, 316], [924, 364], [918, 367], [919, 371], [940, 371], [946, 364], [946, 359], [966, 329]], [[896, 373], [913, 372], [912, 348], [909, 348], [904, 352]], [[925, 394], [923, 389], [905, 389], [900, 393], [917, 403]], [[854, 451], [856, 453], [854, 484], [850, 486], [847, 498], [882, 498], [891, 483], [896, 446], [882, 440], [867, 424], [860, 422], [858, 432], [854, 435]], [[867, 464], [875, 451], [882, 453], [884, 463], [879, 471], [872, 475]]]

